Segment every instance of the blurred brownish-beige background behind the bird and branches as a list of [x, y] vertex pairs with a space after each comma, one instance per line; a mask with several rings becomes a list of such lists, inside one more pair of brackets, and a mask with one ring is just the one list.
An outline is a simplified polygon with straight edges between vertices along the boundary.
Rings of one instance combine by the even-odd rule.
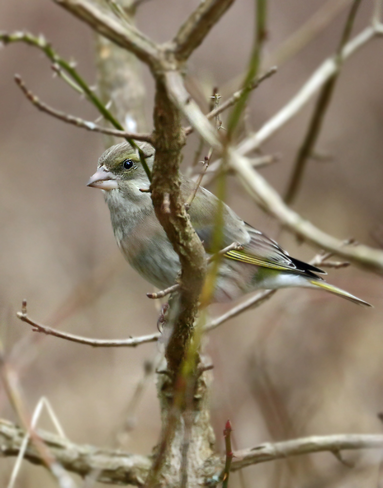
[[[217, 86], [224, 100], [237, 89], [247, 66], [253, 33], [253, 1], [238, 0], [215, 26], [189, 65], [192, 94], [208, 110]], [[341, 5], [326, 27], [251, 96], [247, 130], [256, 130], [293, 96], [339, 42], [350, 2], [271, 0], [264, 66], [318, 9]], [[152, 0], [137, 12], [138, 26], [166, 41], [197, 0]], [[364, 0], [353, 33], [369, 22], [373, 2]], [[94, 36], [53, 2], [3, 0], [0, 30], [43, 33], [90, 83], [96, 81]], [[346, 61], [326, 115], [317, 150], [329, 161], [309, 161], [293, 207], [338, 238], [353, 237], [383, 247], [383, 64], [382, 40]], [[9, 45], [0, 51], [0, 339], [18, 372], [25, 402], [33, 410], [41, 396], [51, 402], [66, 435], [76, 443], [149, 453], [159, 434], [154, 378], [131, 428], [117, 439], [146, 361], [155, 344], [135, 349], [93, 349], [33, 333], [16, 318], [22, 299], [35, 320], [78, 335], [123, 338], [156, 330], [158, 310], [148, 301], [151, 285], [124, 262], [113, 237], [101, 192], [86, 187], [104, 150], [101, 135], [64, 124], [36, 110], [13, 81], [19, 73], [45, 102], [86, 120], [94, 108], [59, 79], [36, 49]], [[153, 83], [143, 67], [146, 119], [152, 127]], [[309, 104], [262, 148], [280, 161], [262, 174], [284, 192], [296, 151], [306, 132]], [[225, 117], [223, 117], [225, 125]], [[191, 136], [184, 165], [198, 139]], [[207, 150], [206, 150], [207, 151]], [[214, 191], [214, 185], [210, 189]], [[310, 259], [301, 244], [265, 215], [233, 177], [230, 206], [289, 253]], [[332, 295], [282, 290], [256, 310], [213, 331], [206, 345], [214, 364], [211, 417], [217, 450], [230, 418], [235, 448], [296, 436], [381, 433], [383, 410], [382, 277], [350, 266], [330, 270], [328, 281], [374, 305], [364, 309]], [[228, 305], [211, 307], [217, 315]], [[1, 386], [0, 386], [1, 388]], [[134, 421], [131, 416], [133, 415]], [[3, 389], [0, 416], [16, 420]], [[45, 416], [39, 424], [53, 428]], [[246, 468], [230, 487], [379, 487], [382, 452], [345, 453], [354, 468], [330, 453]], [[14, 459], [0, 459], [6, 486]], [[18, 487], [53, 487], [44, 469], [24, 463]]]

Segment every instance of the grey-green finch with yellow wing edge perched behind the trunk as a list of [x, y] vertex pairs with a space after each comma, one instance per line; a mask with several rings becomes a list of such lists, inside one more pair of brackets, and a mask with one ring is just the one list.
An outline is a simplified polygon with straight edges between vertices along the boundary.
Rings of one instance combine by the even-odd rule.
[[[149, 142], [137, 142], [150, 169], [155, 149]], [[185, 201], [196, 183], [180, 175]], [[96, 173], [88, 186], [103, 191], [110, 210], [115, 240], [125, 259], [149, 283], [159, 289], [174, 285], [180, 262], [154, 212], [148, 177], [140, 163], [138, 150], [129, 142], [107, 149], [99, 158]], [[218, 199], [198, 186], [188, 210], [191, 224], [207, 256], [214, 252], [215, 215]], [[287, 251], [263, 232], [244, 222], [222, 204], [222, 249], [229, 250], [220, 260], [211, 302], [225, 303], [258, 289], [303, 287], [322, 289], [359, 305], [371, 306], [345, 290], [326, 283], [322, 269], [288, 255]]]

